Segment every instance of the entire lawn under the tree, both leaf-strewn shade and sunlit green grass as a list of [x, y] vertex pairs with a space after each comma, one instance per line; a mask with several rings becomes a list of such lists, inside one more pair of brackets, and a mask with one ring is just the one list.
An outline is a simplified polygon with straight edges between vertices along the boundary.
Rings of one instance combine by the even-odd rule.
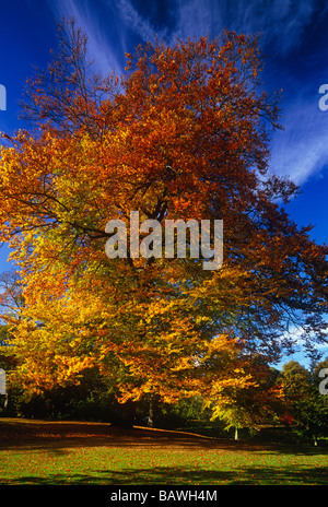
[[0, 418], [2, 484], [327, 484], [326, 447]]

